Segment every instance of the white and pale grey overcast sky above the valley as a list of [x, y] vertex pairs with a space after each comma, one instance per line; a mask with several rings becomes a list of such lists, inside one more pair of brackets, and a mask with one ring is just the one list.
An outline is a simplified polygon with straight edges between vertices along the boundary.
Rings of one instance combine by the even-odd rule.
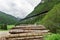
[[0, 11], [24, 18], [31, 13], [41, 0], [0, 0]]

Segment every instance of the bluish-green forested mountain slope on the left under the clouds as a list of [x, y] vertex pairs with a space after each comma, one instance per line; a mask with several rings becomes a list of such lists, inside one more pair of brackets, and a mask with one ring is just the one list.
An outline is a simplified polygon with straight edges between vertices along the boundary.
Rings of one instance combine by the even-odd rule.
[[17, 19], [0, 11], [0, 24], [15, 24]]

